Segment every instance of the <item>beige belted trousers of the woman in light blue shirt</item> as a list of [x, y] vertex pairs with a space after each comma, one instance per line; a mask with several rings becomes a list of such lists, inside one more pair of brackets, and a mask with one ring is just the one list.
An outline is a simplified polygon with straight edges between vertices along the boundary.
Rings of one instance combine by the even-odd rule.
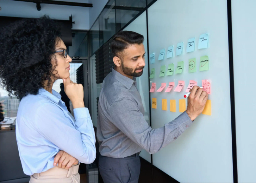
[[40, 174], [33, 174], [30, 176], [30, 183], [41, 182], [80, 182], [80, 175], [78, 173], [79, 164], [71, 166], [68, 170], [58, 168], [55, 166]]

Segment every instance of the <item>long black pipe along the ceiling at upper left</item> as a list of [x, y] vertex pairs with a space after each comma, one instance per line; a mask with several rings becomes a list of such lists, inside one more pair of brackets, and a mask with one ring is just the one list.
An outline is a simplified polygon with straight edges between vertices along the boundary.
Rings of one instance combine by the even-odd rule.
[[67, 1], [52, 1], [52, 0], [12, 0], [12, 1], [34, 2], [37, 4], [37, 6], [38, 4], [40, 5], [42, 3], [42, 4], [52, 4], [52, 5], [93, 7], [93, 4], [90, 4], [90, 3], [67, 2]]

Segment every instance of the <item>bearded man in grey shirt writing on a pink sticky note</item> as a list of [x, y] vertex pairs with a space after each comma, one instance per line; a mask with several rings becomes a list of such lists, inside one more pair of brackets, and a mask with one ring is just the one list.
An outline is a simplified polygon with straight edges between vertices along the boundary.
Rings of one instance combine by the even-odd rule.
[[188, 107], [179, 117], [152, 130], [144, 119], [136, 77], [143, 73], [143, 35], [131, 31], [114, 35], [111, 43], [115, 67], [102, 84], [97, 138], [99, 171], [104, 182], [138, 182], [139, 152], [156, 153], [178, 138], [203, 111], [208, 94], [194, 86]]

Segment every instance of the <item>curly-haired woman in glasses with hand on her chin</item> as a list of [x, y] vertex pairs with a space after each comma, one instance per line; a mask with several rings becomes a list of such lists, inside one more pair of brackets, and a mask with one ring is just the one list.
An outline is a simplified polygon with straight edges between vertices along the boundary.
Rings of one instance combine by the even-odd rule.
[[[1, 83], [22, 98], [16, 136], [24, 173], [31, 175], [30, 182], [80, 182], [79, 164], [74, 166], [70, 157], [92, 163], [95, 135], [83, 86], [69, 78], [71, 58], [57, 22], [46, 16], [23, 19], [0, 33]], [[57, 79], [63, 79], [75, 118], [52, 90]]]

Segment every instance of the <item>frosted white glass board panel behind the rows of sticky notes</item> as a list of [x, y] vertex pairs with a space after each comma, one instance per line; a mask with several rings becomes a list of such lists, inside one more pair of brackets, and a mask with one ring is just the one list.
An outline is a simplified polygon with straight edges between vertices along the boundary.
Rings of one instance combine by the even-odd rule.
[[[184, 99], [189, 80], [201, 86], [202, 79], [211, 82], [212, 115], [200, 115], [193, 125], [173, 143], [153, 155], [152, 163], [179, 182], [233, 182], [232, 140], [230, 114], [229, 45], [227, 30], [227, 2], [223, 0], [158, 0], [148, 8], [149, 54], [155, 53], [155, 77], [150, 83], [185, 81], [181, 92], [151, 93], [157, 98], [157, 109], [151, 109], [152, 128], [160, 128], [175, 119], [179, 99]], [[200, 34], [209, 35], [208, 48], [197, 49]], [[195, 50], [186, 53], [188, 39], [195, 37]], [[169, 46], [183, 42], [183, 54], [166, 58]], [[158, 60], [165, 48], [164, 60]], [[200, 57], [207, 55], [208, 71], [199, 71]], [[188, 73], [188, 60], [196, 58], [197, 71]], [[182, 74], [159, 77], [161, 65], [184, 61]], [[176, 70], [176, 68], [175, 68]], [[167, 99], [167, 111], [162, 110], [162, 99]], [[170, 112], [170, 99], [176, 100], [176, 111]]]

